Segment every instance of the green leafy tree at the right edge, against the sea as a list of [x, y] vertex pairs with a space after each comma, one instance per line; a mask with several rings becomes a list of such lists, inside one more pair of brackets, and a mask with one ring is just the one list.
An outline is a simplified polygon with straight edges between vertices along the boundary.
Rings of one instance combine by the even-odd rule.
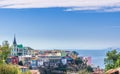
[[120, 52], [116, 50], [108, 51], [104, 62], [106, 71], [120, 67]]

